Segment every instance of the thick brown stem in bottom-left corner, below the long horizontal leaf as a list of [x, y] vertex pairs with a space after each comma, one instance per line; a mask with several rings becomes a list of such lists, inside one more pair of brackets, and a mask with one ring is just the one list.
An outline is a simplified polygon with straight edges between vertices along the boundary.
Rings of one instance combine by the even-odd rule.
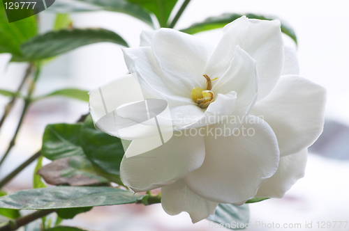
[[45, 210], [39, 210], [32, 214], [29, 214], [27, 216], [22, 216], [15, 221], [10, 221], [7, 225], [4, 225], [0, 228], [0, 231], [13, 231], [17, 230], [18, 228], [27, 225], [28, 223], [31, 223], [31, 221], [35, 221], [38, 218], [41, 218], [43, 216], [47, 216], [48, 214], [51, 214], [52, 212], [55, 212], [55, 209], [45, 209]]

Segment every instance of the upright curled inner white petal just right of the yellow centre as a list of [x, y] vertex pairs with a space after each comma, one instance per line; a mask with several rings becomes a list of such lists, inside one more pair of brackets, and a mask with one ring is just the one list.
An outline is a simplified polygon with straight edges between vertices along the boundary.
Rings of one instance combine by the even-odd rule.
[[258, 77], [255, 61], [239, 46], [235, 48], [234, 58], [232, 58], [228, 70], [222, 77], [218, 77], [212, 88], [215, 93], [223, 94], [230, 90], [237, 93], [235, 109], [230, 115], [223, 115], [225, 119], [214, 125], [218, 129], [230, 129], [230, 132], [225, 132], [224, 136], [230, 136], [235, 132], [235, 129], [242, 125], [257, 99]]

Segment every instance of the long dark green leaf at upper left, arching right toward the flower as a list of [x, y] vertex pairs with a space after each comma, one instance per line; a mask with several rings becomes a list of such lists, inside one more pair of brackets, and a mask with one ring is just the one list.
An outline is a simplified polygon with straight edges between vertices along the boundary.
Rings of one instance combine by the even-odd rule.
[[106, 29], [70, 29], [38, 35], [24, 42], [21, 49], [24, 57], [33, 61], [57, 56], [96, 42], [113, 42], [128, 47], [117, 33]]

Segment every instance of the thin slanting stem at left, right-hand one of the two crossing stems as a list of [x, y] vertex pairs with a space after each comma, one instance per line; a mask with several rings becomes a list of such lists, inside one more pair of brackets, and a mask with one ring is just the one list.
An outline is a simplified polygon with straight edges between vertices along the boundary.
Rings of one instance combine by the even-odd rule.
[[3, 161], [5, 161], [6, 157], [10, 153], [10, 150], [13, 148], [13, 146], [15, 146], [16, 139], [17, 139], [17, 134], [18, 134], [18, 132], [20, 132], [20, 127], [22, 126], [23, 119], [24, 119], [25, 114], [27, 113], [28, 108], [29, 108], [29, 106], [31, 104], [31, 95], [34, 93], [35, 83], [38, 80], [39, 75], [40, 75], [40, 64], [38, 64], [38, 66], [36, 67], [36, 73], [35, 73], [35, 76], [34, 76], [34, 80], [31, 81], [31, 83], [29, 85], [28, 95], [24, 99], [24, 107], [23, 107], [23, 110], [22, 110], [20, 121], [18, 122], [15, 134], [13, 135], [13, 138], [10, 141], [10, 144], [8, 145], [8, 148], [7, 148], [6, 152], [5, 152], [5, 154], [3, 154], [3, 157], [1, 158], [0, 166], [1, 166], [1, 164], [3, 164]]

